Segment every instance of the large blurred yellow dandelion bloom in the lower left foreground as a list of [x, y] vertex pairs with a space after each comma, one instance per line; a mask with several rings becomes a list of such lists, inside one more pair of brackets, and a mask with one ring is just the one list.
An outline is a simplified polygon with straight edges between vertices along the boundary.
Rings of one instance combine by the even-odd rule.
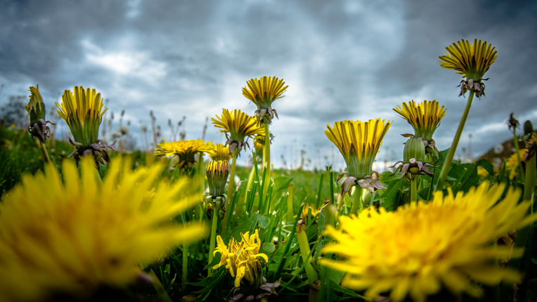
[[[0, 301], [84, 301], [103, 288], [147, 279], [150, 263], [174, 246], [201, 239], [204, 225], [173, 219], [198, 202], [189, 181], [158, 182], [164, 167], [129, 170], [112, 160], [98, 181], [92, 159], [63, 161], [25, 175], [0, 203]], [[147, 192], [156, 188], [150, 201]], [[199, 196], [199, 195], [197, 195]]]

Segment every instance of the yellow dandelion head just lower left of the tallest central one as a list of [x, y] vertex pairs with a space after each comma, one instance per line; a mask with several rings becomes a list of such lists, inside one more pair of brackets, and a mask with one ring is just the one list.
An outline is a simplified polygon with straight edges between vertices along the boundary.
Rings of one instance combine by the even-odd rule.
[[217, 115], [216, 119], [211, 118], [211, 121], [216, 128], [221, 128], [220, 132], [226, 134], [226, 145], [229, 145], [231, 153], [235, 148], [240, 152], [244, 145], [249, 146], [246, 141], [249, 137], [253, 139], [256, 134], [264, 134], [264, 128], [253, 117], [237, 109], [222, 109], [222, 117]]

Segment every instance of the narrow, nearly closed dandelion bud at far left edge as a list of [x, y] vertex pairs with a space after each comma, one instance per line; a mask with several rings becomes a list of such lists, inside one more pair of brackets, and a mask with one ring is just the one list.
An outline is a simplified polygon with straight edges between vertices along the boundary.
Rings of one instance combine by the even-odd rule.
[[[28, 126], [28, 132], [39, 139], [41, 143], [45, 143], [47, 137], [49, 137], [50, 128], [47, 124], [50, 121], [45, 121], [45, 103], [39, 93], [39, 85], [36, 87], [30, 87], [30, 101], [26, 105], [26, 111], [30, 115], [30, 125]], [[54, 124], [52, 124], [54, 125]]]

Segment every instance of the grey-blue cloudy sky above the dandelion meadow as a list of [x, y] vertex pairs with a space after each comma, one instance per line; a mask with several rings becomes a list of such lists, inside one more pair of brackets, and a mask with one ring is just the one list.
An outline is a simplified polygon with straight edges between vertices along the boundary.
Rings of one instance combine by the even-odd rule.
[[[131, 134], [153, 110], [170, 140], [168, 119], [187, 117], [187, 139], [200, 139], [222, 108], [249, 114], [242, 96], [251, 78], [276, 76], [289, 88], [273, 107], [273, 162], [336, 169], [344, 162], [324, 134], [344, 119], [394, 121], [377, 156], [400, 159], [401, 133], [412, 132], [392, 108], [436, 99], [448, 114], [435, 133], [450, 147], [466, 99], [461, 78], [439, 55], [459, 39], [492, 43], [486, 97], [474, 99], [457, 154], [471, 139], [476, 157], [512, 137], [509, 113], [537, 124], [537, 2], [517, 1], [0, 1], [0, 105], [39, 84], [47, 106], [74, 85], [96, 88]], [[109, 113], [107, 113], [109, 114]], [[105, 115], [105, 117], [107, 116]], [[65, 125], [63, 125], [65, 127]], [[151, 127], [149, 127], [151, 128]], [[223, 143], [209, 122], [206, 140]], [[246, 156], [242, 156], [246, 160]]]

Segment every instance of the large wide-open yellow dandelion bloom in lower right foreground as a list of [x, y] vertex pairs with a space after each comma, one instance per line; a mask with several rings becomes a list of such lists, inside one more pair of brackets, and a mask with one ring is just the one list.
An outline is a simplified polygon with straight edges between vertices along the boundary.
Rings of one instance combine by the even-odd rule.
[[[392, 301], [408, 294], [414, 301], [439, 292], [445, 286], [453, 294], [479, 296], [476, 283], [498, 285], [520, 279], [514, 270], [501, 270], [494, 260], [520, 257], [523, 250], [495, 246], [501, 236], [537, 220], [526, 217], [531, 201], [518, 202], [520, 192], [505, 185], [483, 182], [467, 194], [443, 197], [434, 193], [429, 203], [409, 203], [394, 212], [379, 208], [358, 217], [340, 217], [341, 227], [328, 225], [325, 234], [337, 242], [324, 253], [346, 261], [322, 259], [322, 265], [346, 272], [341, 285], [366, 290], [376, 297], [391, 291]], [[499, 202], [498, 202], [499, 201]]]

